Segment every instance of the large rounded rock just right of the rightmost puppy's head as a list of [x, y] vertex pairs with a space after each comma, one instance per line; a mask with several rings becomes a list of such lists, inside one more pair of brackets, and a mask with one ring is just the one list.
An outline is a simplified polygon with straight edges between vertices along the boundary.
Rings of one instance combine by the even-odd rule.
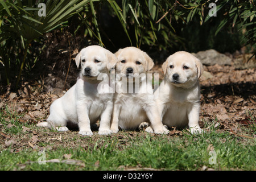
[[204, 65], [231, 65], [230, 57], [224, 55], [223, 53], [219, 53], [214, 49], [199, 51], [197, 53], [193, 53], [193, 55], [200, 59], [201, 63]]

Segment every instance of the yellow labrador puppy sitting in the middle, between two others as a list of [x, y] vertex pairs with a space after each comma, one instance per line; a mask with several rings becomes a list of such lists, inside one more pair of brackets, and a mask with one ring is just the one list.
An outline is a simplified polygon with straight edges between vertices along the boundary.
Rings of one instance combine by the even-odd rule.
[[[146, 52], [135, 47], [119, 49], [115, 53], [115, 94], [111, 130], [118, 132], [136, 129], [142, 122], [149, 122], [156, 134], [169, 133], [160, 119], [154, 100], [152, 85], [147, 83], [147, 71], [154, 62]], [[147, 130], [146, 130], [147, 131]]]

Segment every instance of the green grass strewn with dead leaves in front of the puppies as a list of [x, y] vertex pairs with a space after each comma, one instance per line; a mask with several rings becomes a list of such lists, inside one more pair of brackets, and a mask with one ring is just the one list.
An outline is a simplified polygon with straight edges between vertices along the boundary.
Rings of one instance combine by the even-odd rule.
[[[93, 131], [93, 137], [83, 137], [78, 131], [60, 133], [21, 123], [22, 115], [8, 109], [0, 117], [0, 170], [256, 169], [255, 139], [230, 135], [209, 122], [209, 131], [201, 135], [184, 129], [174, 135], [120, 131], [101, 136]], [[254, 133], [251, 127], [241, 129], [244, 135]], [[7, 146], [11, 139], [14, 144]], [[216, 163], [209, 162], [214, 157], [210, 151]], [[42, 159], [46, 164], [38, 163]]]

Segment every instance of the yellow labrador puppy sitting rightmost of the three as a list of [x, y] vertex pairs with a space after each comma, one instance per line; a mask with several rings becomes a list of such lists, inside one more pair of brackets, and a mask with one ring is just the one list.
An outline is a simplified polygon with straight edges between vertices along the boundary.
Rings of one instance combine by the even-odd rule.
[[168, 127], [188, 125], [192, 134], [201, 133], [199, 77], [204, 71], [203, 65], [191, 53], [180, 51], [169, 56], [162, 68], [164, 80], [155, 95], [163, 124]]

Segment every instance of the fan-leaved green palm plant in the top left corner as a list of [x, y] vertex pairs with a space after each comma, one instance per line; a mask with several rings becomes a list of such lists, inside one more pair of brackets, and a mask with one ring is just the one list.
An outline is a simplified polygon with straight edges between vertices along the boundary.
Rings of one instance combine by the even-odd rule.
[[[45, 3], [44, 3], [45, 2]], [[81, 11], [82, 7], [89, 1], [0, 1], [0, 44], [7, 84], [9, 84], [10, 54], [18, 55], [23, 52], [22, 63], [20, 64], [19, 75], [16, 80], [16, 87], [19, 84], [20, 76], [27, 58], [28, 47], [32, 40], [39, 38], [44, 33], [63, 26], [71, 16]], [[44, 3], [46, 16], [40, 16], [38, 5]], [[17, 41], [18, 39], [18, 41]], [[2, 49], [3, 48], [3, 49]], [[21, 50], [20, 50], [20, 49]], [[17, 58], [16, 58], [17, 59]], [[19, 59], [18, 59], [19, 60]]]

